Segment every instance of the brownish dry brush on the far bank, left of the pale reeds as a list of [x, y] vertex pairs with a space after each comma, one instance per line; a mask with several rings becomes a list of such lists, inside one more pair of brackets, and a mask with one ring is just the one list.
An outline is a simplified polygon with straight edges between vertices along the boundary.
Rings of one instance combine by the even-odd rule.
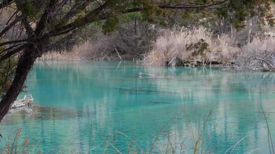
[[[71, 51], [51, 51], [42, 55], [38, 60], [122, 60], [139, 57], [134, 51], [125, 52], [126, 45], [121, 44], [114, 36], [101, 36], [97, 41], [85, 41], [75, 45]], [[134, 48], [135, 49], [135, 48]]]

